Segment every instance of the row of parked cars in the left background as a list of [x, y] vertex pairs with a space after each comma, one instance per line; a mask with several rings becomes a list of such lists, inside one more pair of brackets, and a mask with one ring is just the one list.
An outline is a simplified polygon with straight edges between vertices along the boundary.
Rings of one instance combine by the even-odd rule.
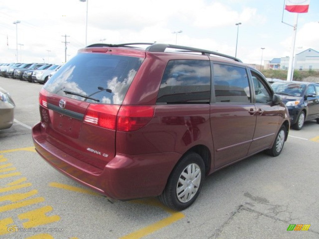
[[44, 84], [50, 73], [61, 65], [46, 63], [10, 63], [0, 65], [0, 75], [8, 78]]

